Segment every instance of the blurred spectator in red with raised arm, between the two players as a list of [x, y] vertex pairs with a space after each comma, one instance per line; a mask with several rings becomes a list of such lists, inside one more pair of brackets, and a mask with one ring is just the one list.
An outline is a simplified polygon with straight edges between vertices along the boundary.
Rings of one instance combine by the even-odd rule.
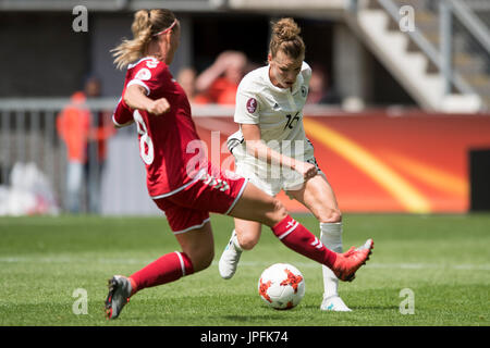
[[236, 89], [246, 73], [247, 58], [238, 51], [224, 51], [196, 79], [197, 103], [234, 104]]

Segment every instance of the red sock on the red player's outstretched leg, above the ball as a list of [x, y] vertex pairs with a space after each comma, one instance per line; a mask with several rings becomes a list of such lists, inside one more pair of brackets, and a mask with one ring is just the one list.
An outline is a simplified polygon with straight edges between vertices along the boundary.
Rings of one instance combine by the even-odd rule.
[[274, 235], [290, 249], [332, 268], [336, 253], [327, 249], [305, 226], [287, 215], [272, 227]]

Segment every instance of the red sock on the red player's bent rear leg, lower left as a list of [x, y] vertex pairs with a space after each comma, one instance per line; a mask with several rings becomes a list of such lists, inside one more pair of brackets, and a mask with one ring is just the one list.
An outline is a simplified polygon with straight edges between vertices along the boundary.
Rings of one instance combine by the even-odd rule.
[[193, 273], [193, 263], [184, 252], [167, 253], [130, 276], [133, 287], [131, 295], [146, 287], [174, 282]]

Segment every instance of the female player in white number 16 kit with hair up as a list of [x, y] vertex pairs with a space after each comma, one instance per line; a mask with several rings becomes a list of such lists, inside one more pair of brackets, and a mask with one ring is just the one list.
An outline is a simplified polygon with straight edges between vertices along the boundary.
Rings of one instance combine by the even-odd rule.
[[[268, 62], [247, 74], [236, 95], [234, 121], [240, 130], [228, 139], [236, 173], [271, 196], [283, 189], [307, 207], [320, 222], [316, 240], [342, 252], [342, 217], [335, 196], [317, 165], [314, 147], [305, 136], [303, 107], [311, 69], [304, 62], [305, 44], [292, 18], [273, 24]], [[235, 219], [235, 229], [223, 251], [219, 271], [231, 278], [243, 250], [259, 240], [261, 224]], [[338, 294], [338, 277], [323, 269], [321, 310], [351, 311]]]

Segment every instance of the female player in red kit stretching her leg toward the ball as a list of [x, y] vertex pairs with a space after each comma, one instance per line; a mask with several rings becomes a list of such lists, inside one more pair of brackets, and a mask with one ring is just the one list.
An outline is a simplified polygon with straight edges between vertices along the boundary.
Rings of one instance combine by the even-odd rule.
[[174, 14], [166, 9], [139, 10], [132, 32], [134, 38], [114, 49], [114, 62], [120, 69], [127, 66], [127, 73], [113, 122], [117, 126], [136, 122], [148, 192], [164, 211], [182, 251], [167, 253], [130, 276], [114, 275], [106, 299], [108, 319], [118, 318], [137, 291], [211, 264], [215, 245], [209, 212], [260, 222], [289, 248], [327, 265], [340, 279], [352, 281], [368, 260], [372, 243], [346, 253], [319, 246], [278, 199], [199, 156], [200, 140], [187, 97], [169, 71], [180, 40]]

